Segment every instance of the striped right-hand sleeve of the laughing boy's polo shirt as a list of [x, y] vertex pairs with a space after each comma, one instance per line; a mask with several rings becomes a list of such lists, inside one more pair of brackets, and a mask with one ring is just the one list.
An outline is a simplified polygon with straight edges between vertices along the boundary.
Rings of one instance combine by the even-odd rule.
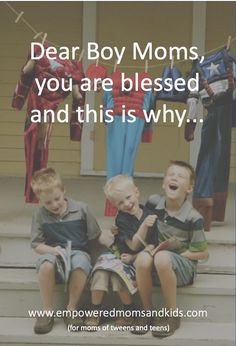
[[[197, 215], [198, 213], [196, 212], [195, 214]], [[192, 237], [189, 243], [189, 251], [205, 251], [207, 247], [208, 245], [203, 228], [203, 218], [199, 215], [199, 217], [194, 217], [192, 222]]]

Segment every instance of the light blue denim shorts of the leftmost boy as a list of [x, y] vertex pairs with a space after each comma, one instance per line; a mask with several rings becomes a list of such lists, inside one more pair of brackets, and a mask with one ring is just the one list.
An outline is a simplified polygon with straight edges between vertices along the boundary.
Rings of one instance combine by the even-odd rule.
[[[36, 262], [37, 272], [39, 271], [41, 264], [45, 261], [55, 264], [56, 256], [50, 253], [41, 255]], [[71, 271], [78, 268], [82, 269], [85, 272], [85, 274], [88, 276], [92, 269], [90, 256], [85, 251], [72, 250], [71, 251]]]

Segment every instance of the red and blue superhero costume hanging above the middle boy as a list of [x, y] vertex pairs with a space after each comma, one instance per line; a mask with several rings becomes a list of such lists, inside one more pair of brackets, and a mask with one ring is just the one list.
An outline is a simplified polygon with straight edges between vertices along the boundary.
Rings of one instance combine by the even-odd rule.
[[[114, 117], [112, 122], [106, 123], [107, 179], [118, 174], [132, 176], [140, 141], [151, 142], [152, 140], [151, 123], [145, 121], [143, 110], [148, 112], [153, 106], [153, 93], [141, 89], [141, 81], [147, 77], [147, 73], [140, 73], [138, 90], [126, 92], [122, 91], [121, 72], [116, 71], [110, 76], [113, 81], [112, 90], [105, 91], [103, 95], [105, 122], [107, 110]], [[132, 115], [135, 119], [131, 119], [128, 115], [130, 110], [134, 110]], [[115, 213], [116, 209], [107, 200], [105, 215], [112, 216]]]

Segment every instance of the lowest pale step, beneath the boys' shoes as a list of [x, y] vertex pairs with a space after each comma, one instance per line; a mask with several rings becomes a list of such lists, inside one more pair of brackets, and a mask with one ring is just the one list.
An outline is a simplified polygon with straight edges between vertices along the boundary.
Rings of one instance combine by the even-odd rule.
[[[133, 335], [128, 331], [95, 333], [68, 332], [62, 320], [56, 320], [53, 330], [46, 335], [35, 335], [34, 320], [29, 318], [0, 318], [0, 345], [106, 345], [106, 346], [233, 346], [234, 323], [185, 322], [174, 335], [164, 339], [154, 338], [150, 332]], [[107, 329], [107, 325], [105, 327]]]

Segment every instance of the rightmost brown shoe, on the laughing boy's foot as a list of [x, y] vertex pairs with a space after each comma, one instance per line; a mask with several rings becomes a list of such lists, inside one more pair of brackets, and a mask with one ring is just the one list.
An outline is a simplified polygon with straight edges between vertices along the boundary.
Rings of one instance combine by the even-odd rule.
[[180, 317], [157, 317], [153, 320], [152, 335], [165, 338], [180, 327]]

